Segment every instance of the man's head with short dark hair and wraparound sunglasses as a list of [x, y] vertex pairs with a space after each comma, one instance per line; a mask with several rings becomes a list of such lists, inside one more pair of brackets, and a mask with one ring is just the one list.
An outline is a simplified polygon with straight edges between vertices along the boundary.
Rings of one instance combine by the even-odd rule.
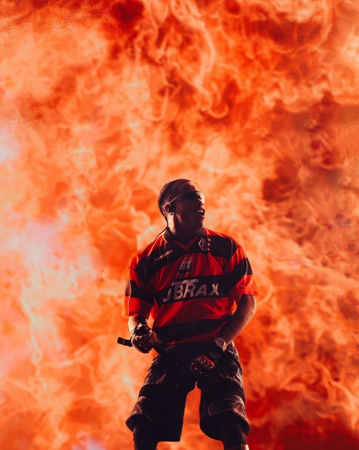
[[198, 186], [185, 178], [166, 183], [158, 196], [158, 207], [171, 231], [195, 232], [202, 228], [203, 203], [204, 195]]

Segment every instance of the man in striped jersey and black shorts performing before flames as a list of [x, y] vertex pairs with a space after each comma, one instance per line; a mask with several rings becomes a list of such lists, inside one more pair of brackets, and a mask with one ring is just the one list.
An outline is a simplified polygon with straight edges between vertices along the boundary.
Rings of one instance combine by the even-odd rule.
[[132, 344], [142, 353], [165, 349], [153, 359], [126, 420], [134, 448], [155, 450], [159, 441], [180, 440], [186, 396], [197, 383], [202, 431], [227, 450], [248, 450], [233, 340], [256, 309], [251, 265], [233, 237], [203, 227], [204, 194], [192, 181], [165, 184], [158, 206], [167, 227], [134, 253], [126, 283]]

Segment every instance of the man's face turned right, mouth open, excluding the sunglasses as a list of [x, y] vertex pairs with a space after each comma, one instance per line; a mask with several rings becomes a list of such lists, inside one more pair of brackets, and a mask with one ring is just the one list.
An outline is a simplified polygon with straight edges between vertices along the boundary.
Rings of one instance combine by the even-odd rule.
[[[186, 181], [173, 192], [172, 198], [192, 190], [200, 189], [191, 181]], [[181, 227], [192, 229], [193, 231], [202, 228], [205, 209], [200, 198], [190, 202], [183, 201], [182, 197], [176, 198], [176, 200], [171, 203], [171, 210], [175, 212], [174, 221], [177, 221]]]

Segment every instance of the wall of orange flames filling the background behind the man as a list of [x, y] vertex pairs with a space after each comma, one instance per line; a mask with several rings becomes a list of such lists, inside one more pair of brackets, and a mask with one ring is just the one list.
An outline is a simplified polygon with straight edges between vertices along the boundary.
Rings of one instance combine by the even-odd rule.
[[[151, 357], [116, 344], [124, 276], [178, 177], [257, 275], [251, 448], [359, 448], [358, 19], [355, 0], [2, 2], [1, 448], [132, 448]], [[222, 448], [197, 403], [159, 449]]]

